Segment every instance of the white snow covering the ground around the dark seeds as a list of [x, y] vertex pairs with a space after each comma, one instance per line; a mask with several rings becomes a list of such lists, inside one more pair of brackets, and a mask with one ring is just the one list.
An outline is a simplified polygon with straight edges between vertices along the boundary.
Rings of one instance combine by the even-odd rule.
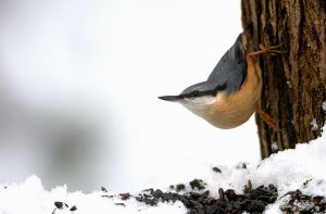
[[[288, 198], [287, 192], [301, 190], [309, 196], [326, 197], [326, 135], [311, 141], [310, 143], [298, 144], [293, 150], [286, 150], [262, 161], [259, 165], [247, 165], [247, 168], [234, 166], [217, 166], [222, 172], [212, 171], [212, 165], [193, 168], [196, 178], [202, 179], [210, 190], [211, 197], [218, 198], [218, 188], [235, 189], [236, 193], [243, 191], [243, 186], [250, 179], [253, 187], [273, 184], [278, 189], [277, 201], [268, 205], [265, 213], [280, 213], [279, 206]], [[240, 164], [242, 165], [242, 164]], [[168, 172], [164, 172], [168, 173]], [[164, 174], [163, 173], [163, 174]], [[180, 173], [181, 174], [181, 173]], [[131, 176], [130, 176], [130, 179]], [[193, 177], [180, 180], [175, 176], [175, 184], [188, 182]], [[171, 180], [168, 180], [170, 182]], [[171, 184], [173, 185], [173, 184]], [[149, 188], [163, 188], [168, 191], [165, 180], [153, 184]], [[165, 189], [164, 189], [165, 188]], [[99, 188], [100, 189], [100, 188]], [[137, 192], [131, 192], [137, 196]], [[103, 196], [115, 196], [108, 198]], [[67, 204], [67, 207], [55, 209], [54, 202], [60, 201]], [[118, 205], [124, 203], [124, 205]], [[73, 207], [73, 209], [72, 209]], [[75, 210], [75, 211], [71, 211]], [[32, 176], [23, 184], [3, 184], [0, 186], [0, 213], [187, 213], [187, 209], [179, 201], [161, 202], [158, 206], [149, 206], [130, 198], [122, 200], [116, 192], [95, 191], [85, 194], [83, 192], [68, 192], [67, 187], [55, 187], [50, 191], [45, 190], [40, 178]]]

